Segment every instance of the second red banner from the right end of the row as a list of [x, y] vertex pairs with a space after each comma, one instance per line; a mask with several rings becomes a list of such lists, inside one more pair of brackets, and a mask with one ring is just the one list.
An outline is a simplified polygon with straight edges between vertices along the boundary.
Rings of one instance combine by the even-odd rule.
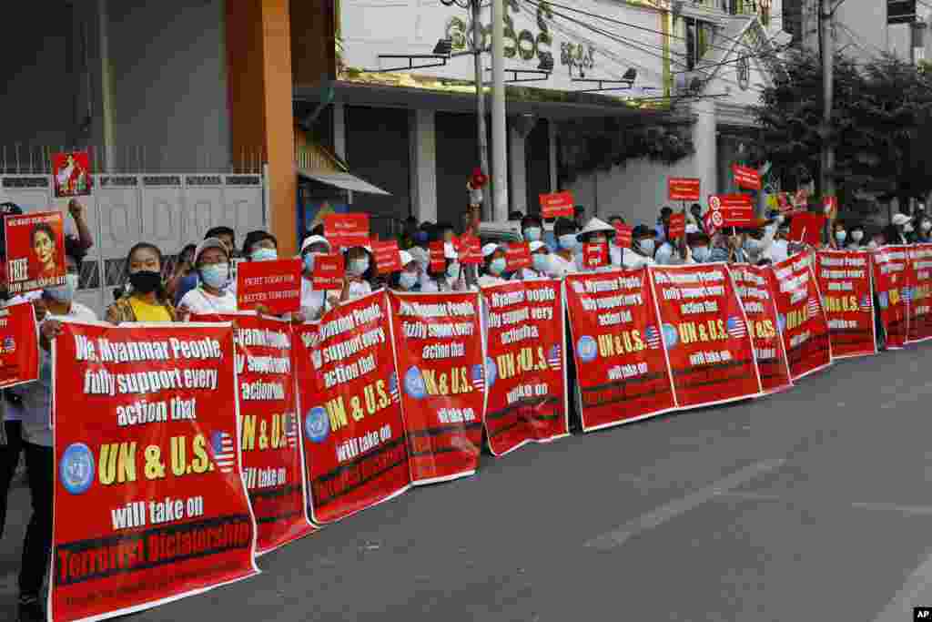
[[871, 253], [877, 311], [887, 348], [902, 348], [910, 335], [908, 251], [909, 246], [883, 246]]

